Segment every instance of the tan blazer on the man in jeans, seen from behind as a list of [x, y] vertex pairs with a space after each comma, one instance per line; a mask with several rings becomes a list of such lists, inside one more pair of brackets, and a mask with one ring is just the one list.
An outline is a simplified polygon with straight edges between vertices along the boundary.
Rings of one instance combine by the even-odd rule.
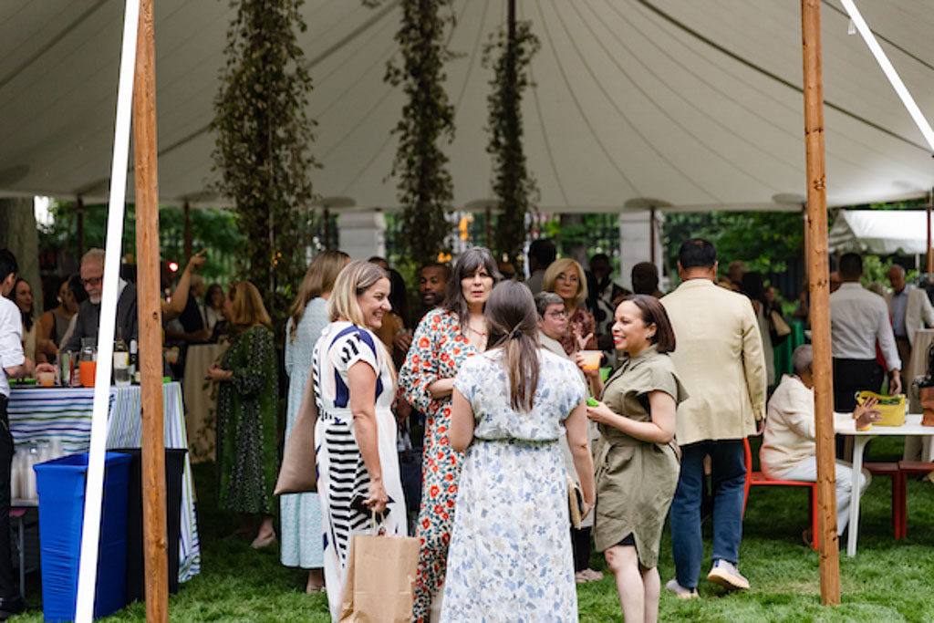
[[678, 443], [755, 434], [765, 418], [767, 379], [752, 303], [709, 279], [689, 279], [661, 304], [674, 329], [672, 360], [690, 396], [678, 405]]

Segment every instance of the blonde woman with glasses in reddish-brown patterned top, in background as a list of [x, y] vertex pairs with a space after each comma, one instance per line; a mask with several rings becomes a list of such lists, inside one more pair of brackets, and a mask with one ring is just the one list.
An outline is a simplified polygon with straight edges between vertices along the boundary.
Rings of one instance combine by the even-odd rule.
[[558, 294], [568, 312], [568, 328], [559, 340], [564, 352], [571, 355], [577, 350], [595, 349], [597, 323], [593, 314], [582, 306], [587, 300], [584, 268], [571, 258], [551, 262], [542, 280], [542, 290]]

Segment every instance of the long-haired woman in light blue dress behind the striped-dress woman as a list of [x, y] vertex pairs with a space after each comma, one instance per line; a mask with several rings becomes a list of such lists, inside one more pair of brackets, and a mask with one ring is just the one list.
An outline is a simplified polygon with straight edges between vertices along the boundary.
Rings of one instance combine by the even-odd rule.
[[[286, 323], [285, 370], [289, 375], [289, 403], [286, 411], [286, 442], [295, 425], [302, 403], [304, 385], [311, 372], [311, 353], [321, 332], [328, 326], [328, 299], [334, 281], [349, 258], [342, 251], [322, 251], [308, 266], [292, 303]], [[295, 493], [279, 498], [282, 538], [279, 559], [287, 567], [308, 569], [305, 591], [324, 588], [324, 555], [321, 545], [321, 504], [318, 493]]]

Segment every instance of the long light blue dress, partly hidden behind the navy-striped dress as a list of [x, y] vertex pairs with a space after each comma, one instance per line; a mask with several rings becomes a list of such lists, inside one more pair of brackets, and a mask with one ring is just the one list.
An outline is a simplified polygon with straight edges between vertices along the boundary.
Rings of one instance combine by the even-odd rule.
[[[302, 404], [304, 385], [311, 372], [311, 353], [318, 337], [328, 326], [327, 301], [318, 297], [304, 307], [304, 314], [292, 341], [292, 321], [286, 325], [285, 368], [289, 375], [289, 406], [286, 411], [286, 441], [289, 440], [298, 408]], [[318, 569], [324, 565], [321, 552], [321, 504], [318, 493], [293, 493], [279, 498], [279, 519], [282, 523], [282, 547], [279, 559], [287, 567]]]

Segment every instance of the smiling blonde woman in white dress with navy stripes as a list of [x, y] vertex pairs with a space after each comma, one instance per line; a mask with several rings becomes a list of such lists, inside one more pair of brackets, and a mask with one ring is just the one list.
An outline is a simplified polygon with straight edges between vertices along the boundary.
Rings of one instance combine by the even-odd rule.
[[[370, 530], [371, 512], [386, 513], [387, 533], [405, 534], [391, 410], [395, 371], [386, 347], [372, 331], [389, 309], [386, 271], [370, 262], [348, 263], [328, 300], [331, 324], [312, 355], [324, 580], [334, 621], [341, 614], [353, 534]], [[307, 388], [303, 400], [310, 400]], [[366, 512], [354, 503], [358, 498]]]

